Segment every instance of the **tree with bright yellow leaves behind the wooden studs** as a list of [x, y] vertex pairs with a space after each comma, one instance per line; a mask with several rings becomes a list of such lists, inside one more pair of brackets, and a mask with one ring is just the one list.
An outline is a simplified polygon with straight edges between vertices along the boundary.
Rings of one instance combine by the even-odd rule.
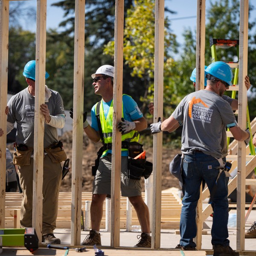
[[[140, 100], [144, 102], [144, 113], [147, 111], [146, 103], [153, 99], [154, 93], [154, 4], [154, 0], [134, 1], [134, 6], [128, 9], [125, 18], [123, 48], [125, 65], [131, 68], [131, 76], [141, 79], [140, 86], [131, 84], [129, 89], [131, 94], [140, 95]], [[164, 47], [164, 86], [171, 89], [172, 87], [166, 84], [169, 84], [168, 78], [174, 75], [172, 67], [175, 63], [171, 53], [177, 52], [177, 42], [175, 35], [170, 31], [170, 22], [167, 18], [165, 19]], [[113, 57], [113, 41], [105, 46], [104, 53]], [[164, 102], [166, 100], [168, 99], [164, 99]]]

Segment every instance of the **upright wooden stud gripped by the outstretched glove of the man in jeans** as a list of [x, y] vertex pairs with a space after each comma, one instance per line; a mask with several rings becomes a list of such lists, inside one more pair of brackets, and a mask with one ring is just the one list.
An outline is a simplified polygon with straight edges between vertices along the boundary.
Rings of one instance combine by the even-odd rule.
[[[163, 120], [164, 0], [155, 1], [154, 122]], [[160, 247], [163, 133], [153, 134], [153, 203], [151, 248]]]

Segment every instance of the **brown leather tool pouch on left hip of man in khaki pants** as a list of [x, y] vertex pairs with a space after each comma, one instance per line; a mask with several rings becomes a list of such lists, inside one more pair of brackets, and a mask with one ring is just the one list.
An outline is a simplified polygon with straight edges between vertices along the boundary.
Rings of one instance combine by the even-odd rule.
[[16, 151], [13, 154], [13, 164], [18, 166], [30, 165], [32, 151], [33, 148], [29, 148], [23, 144], [18, 145]]

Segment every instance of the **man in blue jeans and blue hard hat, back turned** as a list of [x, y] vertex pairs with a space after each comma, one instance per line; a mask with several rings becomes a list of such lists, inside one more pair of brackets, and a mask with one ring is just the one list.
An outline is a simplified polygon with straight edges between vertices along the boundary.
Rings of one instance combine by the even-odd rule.
[[235, 140], [250, 140], [250, 131], [241, 130], [230, 104], [222, 96], [232, 85], [233, 73], [228, 64], [216, 61], [207, 69], [207, 87], [185, 96], [172, 115], [163, 122], [151, 124], [154, 133], [170, 131], [183, 122], [182, 178], [185, 195], [180, 215], [180, 244], [177, 249], [196, 250], [196, 207], [200, 186], [205, 180], [210, 194], [217, 183], [212, 198], [212, 245], [214, 256], [239, 256], [232, 250], [228, 238], [228, 188], [227, 172], [223, 172], [226, 158], [221, 149], [223, 127], [227, 126]]

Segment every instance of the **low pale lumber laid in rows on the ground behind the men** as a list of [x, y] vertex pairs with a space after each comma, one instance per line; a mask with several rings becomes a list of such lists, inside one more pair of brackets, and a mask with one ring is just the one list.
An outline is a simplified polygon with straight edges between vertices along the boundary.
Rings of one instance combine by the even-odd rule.
[[[145, 193], [143, 193], [143, 198]], [[82, 211], [85, 216], [86, 201], [91, 201], [91, 192], [82, 192]], [[6, 193], [6, 213], [5, 227], [19, 228], [20, 205], [22, 194], [16, 192]], [[162, 192], [161, 204], [161, 229], [176, 229], [180, 224], [181, 200], [175, 193], [175, 190], [167, 190]], [[126, 197], [121, 196], [120, 200], [120, 229], [126, 229]], [[105, 229], [105, 203], [103, 206], [103, 218], [101, 228]], [[71, 192], [60, 192], [58, 198], [58, 217], [57, 228], [70, 229], [71, 223]], [[132, 207], [132, 225], [140, 225], [137, 214]]]

